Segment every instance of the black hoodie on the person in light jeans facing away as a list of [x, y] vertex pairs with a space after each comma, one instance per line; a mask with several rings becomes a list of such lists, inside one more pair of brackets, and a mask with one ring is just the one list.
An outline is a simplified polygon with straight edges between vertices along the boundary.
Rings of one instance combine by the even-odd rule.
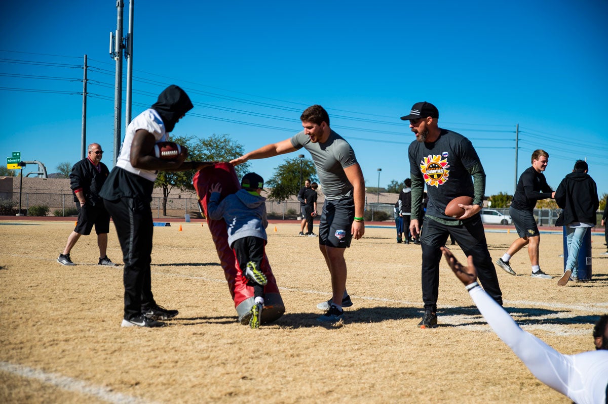
[[597, 224], [598, 188], [586, 172], [573, 171], [566, 175], [555, 191], [555, 201], [564, 209], [556, 226], [574, 222]]

